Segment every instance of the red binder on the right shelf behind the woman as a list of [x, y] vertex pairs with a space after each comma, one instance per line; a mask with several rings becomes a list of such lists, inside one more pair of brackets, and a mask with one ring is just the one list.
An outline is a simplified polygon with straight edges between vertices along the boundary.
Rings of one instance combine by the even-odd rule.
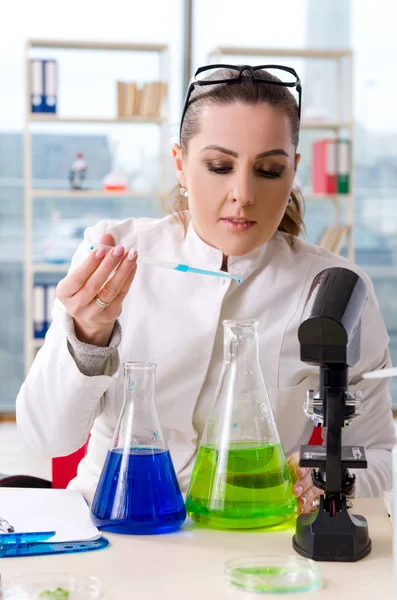
[[313, 142], [312, 189], [314, 194], [336, 194], [336, 140]]

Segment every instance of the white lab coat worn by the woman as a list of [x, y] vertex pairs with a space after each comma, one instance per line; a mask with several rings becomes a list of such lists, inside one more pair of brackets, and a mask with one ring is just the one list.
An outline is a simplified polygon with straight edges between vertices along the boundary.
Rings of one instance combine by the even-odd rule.
[[[86, 231], [73, 269], [87, 256], [87, 242], [104, 232], [142, 256], [220, 269], [222, 253], [204, 243], [190, 223], [184, 237], [172, 217], [103, 221]], [[356, 265], [277, 232], [243, 257], [230, 257], [235, 281], [180, 273], [138, 263], [120, 317], [120, 363], [157, 363], [156, 403], [182, 489], [186, 489], [222, 366], [225, 318], [260, 321], [260, 362], [281, 441], [287, 455], [307, 443], [313, 429], [303, 412], [308, 389], [318, 389], [318, 368], [300, 361], [297, 330], [310, 284], [321, 270], [345, 266], [364, 279], [369, 300], [363, 313], [361, 358], [350, 370], [350, 391], [361, 390], [364, 413], [343, 432], [345, 444], [365, 445], [369, 468], [358, 471], [357, 494], [379, 496], [391, 488], [395, 432], [388, 380], [363, 380], [364, 371], [389, 366], [388, 335], [372, 283]], [[88, 377], [67, 347], [64, 308], [54, 321], [17, 399], [17, 423], [33, 450], [67, 455], [87, 440], [88, 452], [71, 486], [94, 489], [123, 400], [122, 369]], [[114, 358], [112, 360], [115, 360]], [[116, 358], [117, 360], [117, 358]], [[113, 363], [114, 367], [114, 363]], [[112, 365], [108, 365], [109, 373]], [[113, 368], [114, 370], [114, 368]]]

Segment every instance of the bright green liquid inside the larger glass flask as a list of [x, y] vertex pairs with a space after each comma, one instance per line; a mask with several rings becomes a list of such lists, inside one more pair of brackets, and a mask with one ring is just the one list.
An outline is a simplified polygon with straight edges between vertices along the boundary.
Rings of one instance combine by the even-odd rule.
[[186, 499], [199, 525], [215, 529], [278, 528], [295, 516], [296, 499], [281, 444], [200, 446]]

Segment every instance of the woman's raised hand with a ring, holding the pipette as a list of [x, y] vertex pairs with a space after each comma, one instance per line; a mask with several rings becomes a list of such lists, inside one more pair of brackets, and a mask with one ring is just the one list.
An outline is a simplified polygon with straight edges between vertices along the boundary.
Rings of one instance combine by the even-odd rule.
[[134, 249], [126, 252], [123, 246], [116, 246], [109, 233], [105, 233], [99, 243], [114, 248], [107, 254], [105, 248], [91, 252], [58, 283], [56, 295], [74, 319], [77, 338], [88, 344], [107, 346], [135, 277], [137, 253]]

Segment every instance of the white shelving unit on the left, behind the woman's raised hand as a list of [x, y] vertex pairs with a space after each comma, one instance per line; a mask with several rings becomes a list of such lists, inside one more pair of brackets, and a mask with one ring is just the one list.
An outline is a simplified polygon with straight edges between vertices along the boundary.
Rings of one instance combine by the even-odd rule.
[[[128, 190], [125, 192], [113, 192], [105, 190], [69, 190], [69, 189], [34, 189], [32, 181], [32, 127], [37, 123], [43, 124], [110, 124], [110, 125], [142, 125], [153, 124], [160, 127], [161, 146], [164, 147], [164, 141], [167, 135], [167, 119], [161, 117], [90, 117], [77, 116], [68, 117], [67, 115], [32, 113], [31, 112], [31, 82], [30, 82], [30, 59], [34, 49], [51, 50], [95, 50], [104, 52], [130, 52], [130, 53], [155, 53], [159, 59], [159, 74], [163, 81], [169, 80], [168, 68], [168, 46], [165, 44], [133, 44], [133, 43], [112, 43], [112, 42], [86, 42], [78, 40], [45, 40], [29, 39], [26, 43], [25, 53], [25, 77], [26, 77], [26, 103], [25, 103], [25, 128], [24, 128], [24, 238], [25, 238], [25, 270], [24, 270], [24, 292], [25, 292], [25, 372], [30, 368], [37, 349], [42, 345], [43, 340], [34, 338], [33, 334], [33, 283], [36, 274], [54, 273], [59, 274], [59, 279], [65, 276], [69, 264], [52, 263], [34, 263], [32, 248], [32, 229], [33, 229], [33, 210], [34, 201], [37, 198], [64, 198], [72, 199], [137, 199], [137, 198], [161, 198], [166, 192], [166, 174], [165, 167], [161, 164], [160, 189], [155, 192], [135, 192]], [[62, 67], [61, 67], [62, 68]], [[167, 93], [168, 97], [168, 93]], [[165, 114], [167, 114], [167, 98], [165, 100]], [[117, 107], [115, 106], [115, 112]], [[163, 163], [163, 161], [162, 161]]]

